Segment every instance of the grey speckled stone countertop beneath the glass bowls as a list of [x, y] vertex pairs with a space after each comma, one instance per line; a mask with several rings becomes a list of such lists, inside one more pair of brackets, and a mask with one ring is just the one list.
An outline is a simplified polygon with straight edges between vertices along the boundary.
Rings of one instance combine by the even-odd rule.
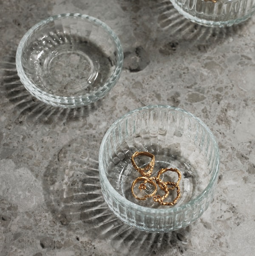
[[[24, 33], [52, 14], [98, 17], [119, 36], [124, 69], [80, 109], [37, 101], [17, 77]], [[168, 0], [0, 0], [0, 255], [234, 256], [255, 251], [255, 17], [225, 29], [185, 20]], [[143, 233], [114, 217], [99, 187], [108, 127], [132, 109], [178, 106], [217, 138], [215, 199], [189, 227]]]

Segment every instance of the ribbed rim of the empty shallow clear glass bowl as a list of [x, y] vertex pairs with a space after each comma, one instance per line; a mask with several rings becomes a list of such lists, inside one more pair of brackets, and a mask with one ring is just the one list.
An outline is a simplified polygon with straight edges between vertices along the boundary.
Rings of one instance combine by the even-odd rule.
[[[102, 29], [107, 32], [108, 35], [111, 36], [113, 39], [113, 42], [116, 44], [116, 66], [114, 72], [111, 74], [111, 76], [108, 78], [108, 81], [106, 81], [102, 86], [94, 91], [91, 91], [90, 93], [85, 93], [82, 95], [77, 96], [59, 96], [54, 95], [48, 92], [45, 92], [44, 90], [40, 89], [35, 85], [26, 75], [26, 72], [23, 69], [22, 65], [22, 52], [23, 47], [26, 44], [26, 41], [31, 36], [31, 34], [40, 26], [47, 24], [54, 20], [59, 20], [66, 17], [76, 17], [81, 18], [84, 20], [88, 20], [90, 23], [95, 24], [96, 26], [101, 27]], [[41, 20], [40, 22], [36, 23], [34, 26], [32, 26], [26, 33], [23, 35], [23, 37], [20, 40], [20, 43], [17, 47], [16, 51], [16, 69], [17, 74], [20, 77], [20, 81], [23, 83], [25, 88], [36, 98], [39, 98], [41, 101], [44, 101], [47, 104], [51, 104], [54, 106], [60, 106], [60, 107], [79, 107], [79, 106], [85, 106], [88, 104], [91, 104], [94, 101], [97, 101], [98, 99], [104, 97], [106, 93], [113, 88], [113, 86], [116, 84], [116, 81], [118, 81], [120, 74], [122, 72], [122, 66], [123, 66], [123, 49], [122, 44], [119, 40], [119, 37], [113, 32], [113, 30], [105, 24], [102, 20], [99, 20], [95, 17], [89, 16], [87, 14], [80, 14], [80, 13], [62, 13], [53, 15], [50, 17], [45, 18], [44, 20]]]

